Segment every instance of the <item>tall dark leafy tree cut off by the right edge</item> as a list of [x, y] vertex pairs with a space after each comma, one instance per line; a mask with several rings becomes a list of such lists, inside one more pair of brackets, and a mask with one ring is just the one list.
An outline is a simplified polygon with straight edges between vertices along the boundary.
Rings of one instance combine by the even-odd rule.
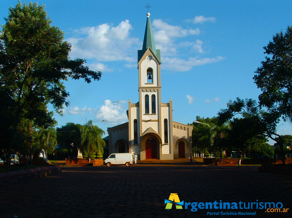
[[292, 28], [288, 26], [285, 34], [281, 31], [274, 35], [263, 48], [269, 57], [262, 61], [253, 79], [262, 91], [259, 104], [267, 108], [263, 114], [267, 135], [277, 141], [285, 164], [283, 139], [276, 133], [276, 128], [281, 117], [292, 121]]

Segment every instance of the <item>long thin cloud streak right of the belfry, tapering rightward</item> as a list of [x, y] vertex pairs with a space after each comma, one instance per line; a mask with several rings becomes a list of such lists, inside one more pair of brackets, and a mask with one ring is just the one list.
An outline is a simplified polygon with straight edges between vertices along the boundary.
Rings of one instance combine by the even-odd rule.
[[172, 71], [188, 71], [191, 70], [194, 66], [199, 66], [203, 64], [209, 64], [214, 63], [217, 61], [223, 60], [224, 57], [216, 57], [216, 58], [194, 58], [189, 57], [188, 60], [183, 60], [178, 57], [170, 58], [170, 57], [163, 57], [162, 62], [164, 64], [164, 67], [172, 70]]

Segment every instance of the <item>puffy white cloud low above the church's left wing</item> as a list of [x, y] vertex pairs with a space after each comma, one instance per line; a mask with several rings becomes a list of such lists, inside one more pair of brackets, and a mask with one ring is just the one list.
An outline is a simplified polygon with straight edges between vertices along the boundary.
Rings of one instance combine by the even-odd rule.
[[127, 101], [123, 100], [111, 102], [107, 99], [94, 116], [97, 120], [107, 119], [107, 122], [112, 125], [125, 123], [128, 121], [128, 117], [122, 104], [125, 104], [126, 102]]

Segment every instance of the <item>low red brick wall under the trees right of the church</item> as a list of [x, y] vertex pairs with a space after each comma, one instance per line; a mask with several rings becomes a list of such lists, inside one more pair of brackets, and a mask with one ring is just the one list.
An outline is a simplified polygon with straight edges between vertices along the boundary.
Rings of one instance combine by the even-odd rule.
[[[218, 166], [222, 165], [238, 165], [239, 158], [222, 158], [222, 162], [220, 162], [220, 158], [204, 158], [204, 164], [214, 164]], [[272, 159], [272, 158], [252, 158], [252, 159], [241, 159], [241, 164], [282, 164], [282, 159]], [[286, 158], [286, 164], [292, 163], [292, 157]]]

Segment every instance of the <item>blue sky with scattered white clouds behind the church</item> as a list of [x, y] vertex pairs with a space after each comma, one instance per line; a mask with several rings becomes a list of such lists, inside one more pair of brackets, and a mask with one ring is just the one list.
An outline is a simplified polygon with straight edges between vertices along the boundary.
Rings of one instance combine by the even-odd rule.
[[[0, 24], [17, 2], [0, 1]], [[162, 102], [172, 98], [173, 119], [185, 124], [196, 116], [217, 116], [236, 97], [257, 99], [260, 90], [252, 78], [265, 58], [262, 47], [292, 25], [292, 1], [38, 2], [72, 44], [70, 57], [84, 58], [92, 70], [103, 72], [91, 84], [65, 82], [70, 106], [54, 116], [57, 126], [107, 119], [98, 124], [105, 131], [127, 122], [129, 98], [139, 101], [137, 50], [147, 3], [161, 50]], [[292, 134], [291, 125], [279, 126], [278, 132]]]

